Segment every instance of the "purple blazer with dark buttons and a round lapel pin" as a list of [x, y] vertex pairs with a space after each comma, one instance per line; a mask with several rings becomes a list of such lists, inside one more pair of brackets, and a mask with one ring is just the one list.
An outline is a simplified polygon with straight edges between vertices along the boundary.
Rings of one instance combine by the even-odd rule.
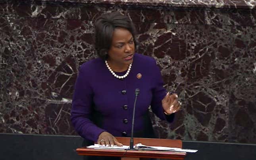
[[[137, 78], [139, 73], [141, 78]], [[162, 108], [167, 91], [154, 58], [135, 53], [131, 71], [123, 80], [115, 78], [100, 58], [84, 63], [75, 83], [71, 109], [75, 130], [91, 141], [97, 141], [103, 131], [114, 136], [130, 136], [136, 88], [140, 94], [135, 108], [135, 132], [147, 132], [146, 123], [152, 128], [150, 119], [145, 119], [145, 115], [149, 117], [149, 106], [160, 119], [173, 121], [173, 115], [166, 116]]]

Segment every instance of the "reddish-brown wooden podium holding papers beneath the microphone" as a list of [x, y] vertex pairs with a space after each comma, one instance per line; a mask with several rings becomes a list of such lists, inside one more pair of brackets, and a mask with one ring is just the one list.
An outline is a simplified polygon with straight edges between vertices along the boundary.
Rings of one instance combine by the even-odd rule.
[[[116, 137], [123, 145], [130, 145], [130, 137]], [[142, 143], [148, 146], [177, 147], [182, 148], [181, 140], [173, 139], [152, 139], [152, 138], [133, 138], [134, 144]], [[90, 156], [118, 156], [121, 160], [140, 160], [140, 158], [166, 158], [173, 160], [183, 160], [186, 152], [156, 151], [156, 150], [114, 150], [114, 149], [87, 149], [78, 148], [79, 155]]]

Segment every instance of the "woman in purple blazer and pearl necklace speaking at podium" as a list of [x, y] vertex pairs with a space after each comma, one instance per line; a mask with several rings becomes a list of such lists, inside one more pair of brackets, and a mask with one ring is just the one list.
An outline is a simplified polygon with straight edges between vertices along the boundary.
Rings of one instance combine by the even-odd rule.
[[135, 137], [155, 137], [149, 106], [168, 122], [180, 109], [177, 95], [163, 88], [156, 61], [135, 53], [136, 44], [135, 27], [129, 17], [112, 12], [96, 19], [95, 49], [99, 58], [81, 66], [71, 109], [71, 121], [85, 139], [84, 145], [97, 142], [121, 146], [114, 136], [131, 136], [136, 88], [140, 94], [135, 110]]

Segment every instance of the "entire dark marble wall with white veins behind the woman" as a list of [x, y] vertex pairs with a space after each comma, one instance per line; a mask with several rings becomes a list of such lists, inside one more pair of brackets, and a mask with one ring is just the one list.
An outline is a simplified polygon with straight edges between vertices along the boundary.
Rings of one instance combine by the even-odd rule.
[[0, 133], [76, 135], [69, 117], [79, 66], [95, 57], [93, 20], [120, 11], [137, 26], [183, 108], [160, 138], [256, 143], [253, 1], [0, 0]]

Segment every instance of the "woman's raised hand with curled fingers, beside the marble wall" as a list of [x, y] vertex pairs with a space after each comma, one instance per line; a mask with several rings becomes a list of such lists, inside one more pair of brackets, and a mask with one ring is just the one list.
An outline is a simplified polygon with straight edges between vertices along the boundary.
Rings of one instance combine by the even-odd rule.
[[179, 102], [177, 94], [173, 93], [170, 95], [168, 92], [162, 100], [162, 106], [167, 114], [172, 114], [181, 109], [181, 102]]

